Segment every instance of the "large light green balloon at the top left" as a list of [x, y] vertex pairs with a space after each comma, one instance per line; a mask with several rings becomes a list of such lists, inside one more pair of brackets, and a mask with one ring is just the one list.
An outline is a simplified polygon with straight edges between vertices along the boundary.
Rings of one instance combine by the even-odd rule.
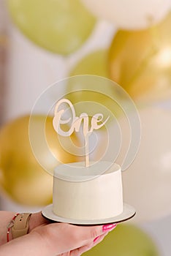
[[96, 23], [79, 0], [8, 0], [8, 7], [26, 37], [63, 55], [77, 50]]

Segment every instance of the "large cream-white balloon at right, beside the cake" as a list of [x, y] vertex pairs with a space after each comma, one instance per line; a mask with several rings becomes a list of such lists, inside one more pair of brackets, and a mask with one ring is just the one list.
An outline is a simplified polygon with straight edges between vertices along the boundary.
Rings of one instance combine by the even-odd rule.
[[136, 208], [134, 221], [147, 222], [171, 214], [171, 110], [140, 110], [140, 119], [140, 151], [123, 172], [123, 199]]

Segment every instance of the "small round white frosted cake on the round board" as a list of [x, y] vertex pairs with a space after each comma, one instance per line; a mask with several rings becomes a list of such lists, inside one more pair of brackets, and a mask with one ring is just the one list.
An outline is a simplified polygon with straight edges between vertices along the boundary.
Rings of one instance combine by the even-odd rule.
[[53, 177], [53, 214], [83, 220], [122, 214], [121, 167], [111, 165], [110, 162], [90, 167], [85, 167], [84, 162], [58, 165]]

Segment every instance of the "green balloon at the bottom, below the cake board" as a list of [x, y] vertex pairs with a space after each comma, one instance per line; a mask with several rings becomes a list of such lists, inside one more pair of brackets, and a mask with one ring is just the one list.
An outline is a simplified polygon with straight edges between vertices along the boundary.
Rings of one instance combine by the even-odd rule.
[[159, 256], [153, 240], [134, 225], [118, 225], [84, 256]]

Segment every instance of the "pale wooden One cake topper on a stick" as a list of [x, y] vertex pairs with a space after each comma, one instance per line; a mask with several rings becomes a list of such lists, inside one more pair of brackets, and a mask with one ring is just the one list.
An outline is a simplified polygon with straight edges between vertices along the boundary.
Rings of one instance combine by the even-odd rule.
[[[66, 103], [69, 105], [69, 108], [72, 112], [72, 117], [62, 119], [62, 116], [64, 115], [65, 110], [59, 110], [60, 106]], [[110, 118], [110, 116], [107, 116], [107, 118], [103, 121], [103, 114], [102, 113], [96, 113], [94, 116], [91, 118], [91, 126], [89, 127], [89, 120], [88, 120], [88, 114], [87, 113], [81, 113], [80, 116], [75, 115], [75, 108], [72, 105], [72, 102], [69, 101], [69, 99], [60, 99], [55, 108], [54, 112], [54, 118], [53, 118], [53, 127], [58, 133], [58, 135], [67, 137], [72, 135], [73, 132], [79, 132], [80, 131], [80, 126], [83, 122], [83, 135], [84, 135], [84, 140], [85, 140], [85, 156], [86, 156], [86, 167], [89, 166], [89, 135], [91, 135], [91, 132], [94, 131], [94, 129], [100, 129], [101, 127], [106, 124], [107, 120]], [[69, 124], [69, 121], [72, 120], [71, 127], [68, 131], [64, 131], [61, 129], [61, 124]], [[100, 123], [100, 124], [99, 124]]]

